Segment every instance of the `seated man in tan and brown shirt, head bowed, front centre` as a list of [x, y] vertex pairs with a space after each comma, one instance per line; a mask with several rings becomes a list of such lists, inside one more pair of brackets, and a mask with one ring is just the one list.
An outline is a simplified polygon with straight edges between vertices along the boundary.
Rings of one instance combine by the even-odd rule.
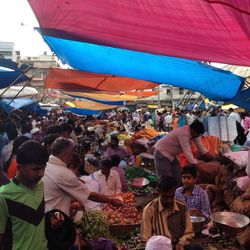
[[171, 239], [176, 250], [183, 249], [193, 236], [190, 213], [186, 205], [175, 200], [177, 183], [172, 176], [159, 180], [159, 198], [151, 201], [143, 210], [141, 239], [149, 240], [154, 235]]

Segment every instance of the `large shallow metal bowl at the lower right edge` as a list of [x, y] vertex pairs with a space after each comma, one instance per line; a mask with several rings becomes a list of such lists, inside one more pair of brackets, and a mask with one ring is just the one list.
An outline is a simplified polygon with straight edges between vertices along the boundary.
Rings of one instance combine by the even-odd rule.
[[250, 219], [240, 213], [216, 212], [210, 217], [222, 235], [236, 235], [250, 223]]

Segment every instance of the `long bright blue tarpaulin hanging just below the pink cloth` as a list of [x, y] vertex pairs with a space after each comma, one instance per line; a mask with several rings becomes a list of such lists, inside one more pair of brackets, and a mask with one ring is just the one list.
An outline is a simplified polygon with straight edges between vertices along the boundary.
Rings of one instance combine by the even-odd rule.
[[[213, 100], [234, 98], [244, 78], [206, 64], [168, 56], [43, 36], [56, 55], [71, 67], [170, 84], [198, 91]], [[81, 55], [81, 56], [79, 56]]]

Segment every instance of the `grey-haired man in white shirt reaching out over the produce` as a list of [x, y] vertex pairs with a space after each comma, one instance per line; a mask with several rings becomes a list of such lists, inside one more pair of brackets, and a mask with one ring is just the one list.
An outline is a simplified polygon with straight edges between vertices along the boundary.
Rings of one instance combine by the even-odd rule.
[[52, 155], [45, 168], [44, 197], [45, 210], [59, 209], [65, 214], [70, 214], [71, 200], [76, 199], [84, 205], [87, 199], [120, 205], [117, 199], [110, 199], [88, 190], [78, 177], [68, 169], [75, 144], [72, 139], [57, 138], [51, 146]]

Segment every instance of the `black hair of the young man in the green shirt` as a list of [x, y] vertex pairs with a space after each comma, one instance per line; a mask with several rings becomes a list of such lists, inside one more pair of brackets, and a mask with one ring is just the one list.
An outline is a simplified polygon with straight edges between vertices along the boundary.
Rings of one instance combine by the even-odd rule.
[[46, 148], [39, 142], [29, 140], [24, 142], [16, 153], [17, 164], [28, 165], [37, 164], [44, 165], [49, 159]]

